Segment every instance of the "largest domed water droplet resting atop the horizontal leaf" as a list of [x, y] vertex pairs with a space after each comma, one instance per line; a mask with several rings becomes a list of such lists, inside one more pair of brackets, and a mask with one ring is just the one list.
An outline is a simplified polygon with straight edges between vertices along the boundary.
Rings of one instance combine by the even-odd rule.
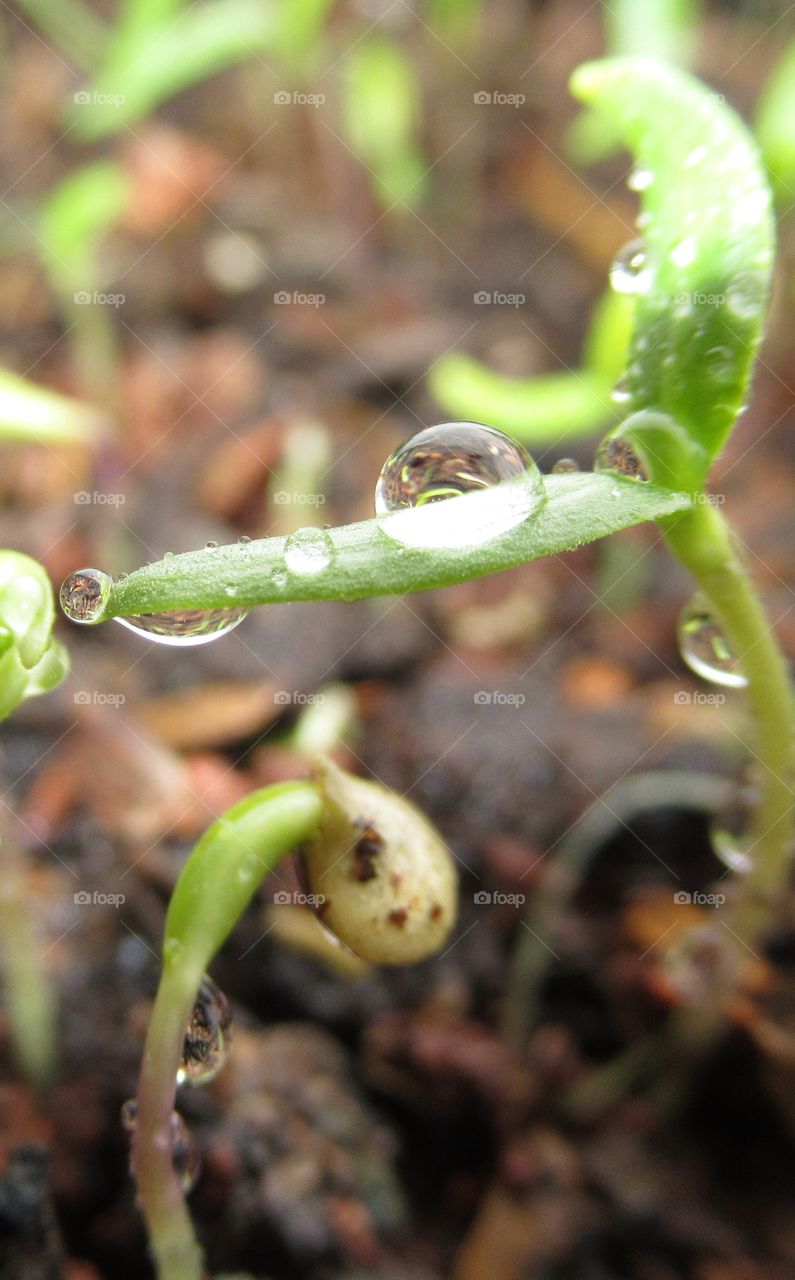
[[384, 532], [406, 547], [479, 547], [544, 500], [543, 476], [522, 445], [479, 422], [412, 435], [387, 458], [375, 486]]

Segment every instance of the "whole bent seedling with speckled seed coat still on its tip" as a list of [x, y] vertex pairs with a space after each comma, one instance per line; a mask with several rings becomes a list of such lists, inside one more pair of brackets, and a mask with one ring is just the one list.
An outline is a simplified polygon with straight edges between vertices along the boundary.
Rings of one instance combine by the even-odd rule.
[[[264, 877], [297, 846], [324, 923], [364, 960], [412, 964], [438, 950], [454, 923], [456, 872], [433, 827], [406, 800], [329, 762], [319, 762], [312, 781], [255, 792], [202, 836], [169, 904], [134, 1106], [133, 1171], [159, 1280], [204, 1275], [184, 1202], [187, 1139], [174, 1119], [178, 1080], [209, 1079], [221, 1057], [219, 1043], [211, 1070], [206, 1053], [195, 1069], [186, 1034], [197, 992], [205, 1005], [214, 1002], [219, 1036], [228, 1039], [227, 1016], [218, 1012], [223, 997], [204, 974]], [[206, 1030], [206, 1010], [201, 1021]]]

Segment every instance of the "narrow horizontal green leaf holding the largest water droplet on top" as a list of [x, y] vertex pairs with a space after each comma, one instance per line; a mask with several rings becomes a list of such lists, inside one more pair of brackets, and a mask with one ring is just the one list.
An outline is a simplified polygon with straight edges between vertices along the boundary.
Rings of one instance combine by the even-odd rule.
[[[284, 539], [268, 538], [216, 550], [188, 552], [147, 564], [110, 591], [105, 618], [168, 609], [229, 608], [285, 600], [355, 600], [448, 586], [495, 573], [525, 561], [571, 550], [582, 543], [644, 520], [682, 511], [684, 494], [607, 474], [545, 476], [547, 502], [525, 524], [480, 547], [415, 549], [367, 520], [328, 530], [333, 557], [315, 573], [285, 573]], [[476, 522], [478, 503], [488, 492], [449, 499], [469, 503]], [[443, 517], [447, 503], [411, 512]]]

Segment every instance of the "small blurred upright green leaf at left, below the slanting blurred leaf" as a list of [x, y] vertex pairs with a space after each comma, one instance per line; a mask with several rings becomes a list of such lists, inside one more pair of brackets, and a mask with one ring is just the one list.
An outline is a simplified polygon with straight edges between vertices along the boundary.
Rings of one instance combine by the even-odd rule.
[[42, 205], [38, 233], [45, 264], [55, 288], [74, 294], [76, 302], [87, 301], [99, 283], [97, 251], [124, 212], [129, 191], [120, 165], [99, 160], [70, 173]]

